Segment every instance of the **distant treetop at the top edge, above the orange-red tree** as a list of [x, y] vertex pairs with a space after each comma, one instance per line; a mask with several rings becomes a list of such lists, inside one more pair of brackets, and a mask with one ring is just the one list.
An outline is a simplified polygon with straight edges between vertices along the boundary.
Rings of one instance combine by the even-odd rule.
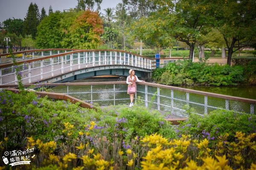
[[100, 10], [100, 4], [102, 3], [102, 0], [77, 0], [77, 9], [80, 10], [93, 10], [93, 7], [95, 4], [97, 4], [97, 10]]

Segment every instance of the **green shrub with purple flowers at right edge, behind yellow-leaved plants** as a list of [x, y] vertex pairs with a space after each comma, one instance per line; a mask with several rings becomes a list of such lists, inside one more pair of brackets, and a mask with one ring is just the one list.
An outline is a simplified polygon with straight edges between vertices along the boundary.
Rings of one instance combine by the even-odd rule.
[[204, 116], [191, 113], [188, 120], [179, 125], [178, 131], [199, 139], [215, 139], [228, 133], [233, 140], [238, 131], [246, 134], [256, 132], [256, 116], [226, 110], [215, 110]]

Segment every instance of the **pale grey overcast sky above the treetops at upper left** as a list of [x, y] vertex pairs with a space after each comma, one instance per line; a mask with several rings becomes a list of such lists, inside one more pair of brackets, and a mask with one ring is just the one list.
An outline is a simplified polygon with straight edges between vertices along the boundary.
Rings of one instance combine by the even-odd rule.
[[[0, 22], [12, 17], [24, 19], [31, 2], [38, 5], [40, 13], [44, 7], [47, 14], [50, 5], [53, 11], [75, 8], [77, 5], [77, 0], [0, 0]], [[122, 0], [102, 0], [101, 11], [108, 7], [115, 8], [121, 2]]]

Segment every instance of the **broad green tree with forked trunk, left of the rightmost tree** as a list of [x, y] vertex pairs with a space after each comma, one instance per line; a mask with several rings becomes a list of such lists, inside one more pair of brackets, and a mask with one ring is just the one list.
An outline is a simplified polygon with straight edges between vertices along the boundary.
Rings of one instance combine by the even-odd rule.
[[213, 0], [156, 0], [161, 10], [158, 18], [167, 20], [167, 31], [178, 41], [189, 45], [189, 59], [192, 59], [195, 43], [201, 34], [207, 34], [215, 22]]

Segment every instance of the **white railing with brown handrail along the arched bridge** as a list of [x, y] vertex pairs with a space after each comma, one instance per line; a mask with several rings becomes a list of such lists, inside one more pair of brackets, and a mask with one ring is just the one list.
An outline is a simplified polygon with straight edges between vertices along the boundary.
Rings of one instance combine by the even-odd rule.
[[[32, 53], [31, 59], [27, 59], [24, 55], [25, 52], [21, 53], [23, 56], [18, 60], [17, 65], [14, 65], [12, 61], [0, 65], [0, 85], [17, 84], [16, 74], [20, 74], [23, 83], [26, 84], [40, 82], [83, 68], [105, 65], [129, 65], [146, 70], [155, 68], [154, 59], [119, 50], [74, 50], [68, 52], [62, 50], [60, 52], [60, 50], [45, 51], [44, 49], [41, 51], [41, 55], [36, 56], [35, 53], [38, 54], [38, 51], [29, 51]], [[49, 55], [44, 56], [44, 54]], [[3, 58], [3, 54], [1, 58]], [[17, 73], [15, 68], [19, 70]]]

